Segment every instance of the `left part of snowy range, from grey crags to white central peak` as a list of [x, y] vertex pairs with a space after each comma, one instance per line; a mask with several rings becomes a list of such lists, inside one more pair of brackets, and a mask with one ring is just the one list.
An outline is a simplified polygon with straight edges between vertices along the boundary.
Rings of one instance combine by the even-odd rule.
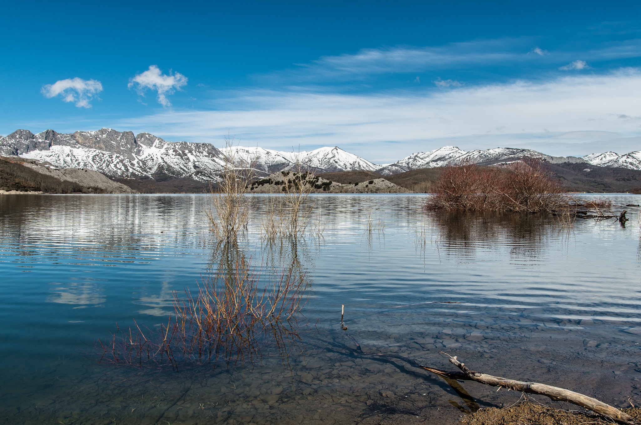
[[296, 153], [240, 146], [219, 149], [210, 143], [174, 143], [146, 132], [134, 136], [131, 131], [106, 128], [72, 134], [18, 130], [6, 138], [0, 136], [0, 155], [48, 161], [60, 168], [90, 168], [112, 176], [156, 180], [218, 180], [230, 158], [237, 166], [254, 163], [259, 174], [265, 175], [292, 168], [297, 162], [318, 172], [379, 168], [338, 147]]

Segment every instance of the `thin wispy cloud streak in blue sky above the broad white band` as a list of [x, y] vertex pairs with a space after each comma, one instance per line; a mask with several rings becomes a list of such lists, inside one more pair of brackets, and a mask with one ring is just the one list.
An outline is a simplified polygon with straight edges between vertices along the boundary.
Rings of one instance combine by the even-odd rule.
[[641, 57], [641, 39], [606, 42], [585, 50], [532, 47], [535, 41], [535, 38], [524, 36], [472, 40], [442, 46], [362, 49], [354, 54], [323, 56], [309, 63], [296, 64], [297, 67], [293, 69], [261, 74], [256, 78], [285, 84], [358, 83], [366, 78], [385, 75], [443, 70], [470, 70], [473, 74], [478, 74], [479, 68], [486, 68], [491, 74], [496, 67], [517, 68], [520, 72], [517, 75], [520, 77], [534, 77], [540, 75], [540, 70], [545, 68], [549, 72], [558, 72], [560, 67], [570, 66], [571, 64], [567, 65], [568, 62], [576, 60], [577, 56], [592, 62]]

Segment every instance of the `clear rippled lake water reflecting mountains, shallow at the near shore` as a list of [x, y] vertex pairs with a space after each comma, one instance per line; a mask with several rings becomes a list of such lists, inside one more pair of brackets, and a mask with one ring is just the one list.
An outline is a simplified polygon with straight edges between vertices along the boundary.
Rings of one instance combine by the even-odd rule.
[[[312, 196], [322, 238], [265, 247], [254, 220], [241, 249], [254, 264], [307, 271], [306, 316], [322, 339], [350, 344], [338, 330], [344, 304], [364, 349], [451, 369], [442, 350], [485, 373], [641, 404], [641, 335], [630, 333], [641, 326], [637, 207], [625, 227], [562, 226], [538, 214], [426, 214], [423, 196]], [[260, 214], [266, 197], [255, 199]], [[96, 365], [87, 344], [116, 322], [153, 328], [173, 311], [172, 291], [215, 268], [204, 200], [0, 197], [4, 423], [454, 423], [474, 403], [518, 398], [464, 383], [470, 401], [435, 376], [327, 346], [308, 347], [291, 370], [270, 357], [197, 376]]]

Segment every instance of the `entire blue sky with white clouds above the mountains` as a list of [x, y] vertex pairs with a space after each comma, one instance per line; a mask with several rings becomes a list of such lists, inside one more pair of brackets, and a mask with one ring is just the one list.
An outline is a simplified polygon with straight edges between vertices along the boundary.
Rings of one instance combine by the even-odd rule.
[[169, 141], [641, 149], [633, 1], [4, 4], [0, 134], [111, 127]]

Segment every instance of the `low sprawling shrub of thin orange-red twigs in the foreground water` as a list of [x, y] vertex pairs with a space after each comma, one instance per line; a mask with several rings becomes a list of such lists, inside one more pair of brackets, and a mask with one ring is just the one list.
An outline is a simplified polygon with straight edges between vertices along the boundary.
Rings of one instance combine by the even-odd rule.
[[228, 367], [278, 350], [283, 362], [299, 344], [297, 319], [304, 306], [304, 274], [284, 269], [264, 287], [251, 261], [240, 256], [232, 268], [204, 278], [198, 293], [174, 292], [175, 314], [157, 330], [120, 329], [110, 341], [98, 340], [101, 362], [113, 365], [179, 367], [223, 362]]

